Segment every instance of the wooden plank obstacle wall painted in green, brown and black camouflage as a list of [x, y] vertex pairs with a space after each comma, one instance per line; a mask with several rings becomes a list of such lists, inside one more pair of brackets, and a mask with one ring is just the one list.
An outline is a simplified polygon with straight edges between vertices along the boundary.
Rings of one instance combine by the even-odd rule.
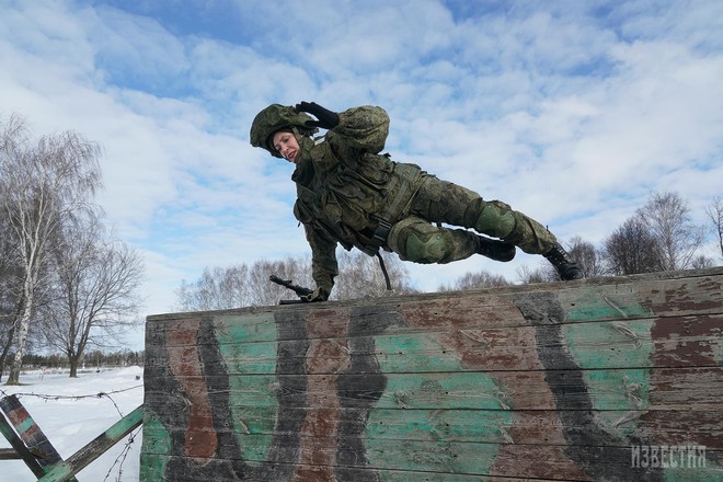
[[723, 481], [723, 268], [152, 315], [145, 385], [146, 482]]

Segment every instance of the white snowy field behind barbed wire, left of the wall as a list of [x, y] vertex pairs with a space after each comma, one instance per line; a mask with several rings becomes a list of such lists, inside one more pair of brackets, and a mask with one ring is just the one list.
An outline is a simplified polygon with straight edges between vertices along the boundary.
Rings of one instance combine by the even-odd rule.
[[[127, 415], [144, 402], [142, 375], [140, 367], [100, 372], [79, 370], [78, 378], [69, 378], [67, 371], [28, 371], [21, 375], [22, 386], [0, 385], [0, 398], [18, 394], [65, 460], [120, 420], [120, 414]], [[107, 395], [99, 397], [99, 393]], [[131, 433], [133, 443], [129, 444], [129, 437], [122, 439], [78, 472], [78, 481], [138, 481], [140, 429]], [[0, 448], [10, 448], [2, 435]], [[35, 482], [37, 479], [22, 460], [0, 460], [0, 480]]]

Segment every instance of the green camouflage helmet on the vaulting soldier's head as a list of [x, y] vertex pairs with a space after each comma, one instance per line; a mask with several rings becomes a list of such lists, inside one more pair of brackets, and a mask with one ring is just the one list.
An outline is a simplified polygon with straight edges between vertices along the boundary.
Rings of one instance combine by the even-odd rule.
[[272, 136], [285, 128], [302, 135], [315, 133], [318, 129], [307, 126], [305, 124], [307, 120], [313, 120], [313, 118], [303, 112], [297, 112], [290, 105], [272, 104], [254, 117], [249, 134], [251, 145], [266, 149], [275, 158], [280, 158], [282, 154], [274, 149]]

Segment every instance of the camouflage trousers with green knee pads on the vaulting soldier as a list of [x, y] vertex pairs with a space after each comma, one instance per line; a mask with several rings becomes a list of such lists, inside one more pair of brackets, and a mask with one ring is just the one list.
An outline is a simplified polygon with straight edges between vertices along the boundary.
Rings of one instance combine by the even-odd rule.
[[556, 242], [547, 228], [507, 204], [484, 200], [473, 191], [433, 175], [425, 176], [408, 211], [409, 216], [392, 226], [387, 245], [402, 260], [415, 263], [449, 263], [475, 254], [479, 237], [469, 229], [529, 254], [546, 253]]

